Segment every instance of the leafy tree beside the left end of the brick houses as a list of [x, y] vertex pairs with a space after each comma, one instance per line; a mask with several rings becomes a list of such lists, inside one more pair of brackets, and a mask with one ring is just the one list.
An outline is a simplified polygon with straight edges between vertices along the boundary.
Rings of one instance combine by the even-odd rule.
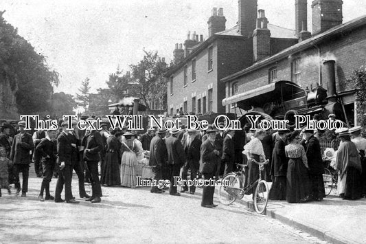
[[161, 62], [157, 52], [146, 52], [137, 65], [130, 65], [133, 80], [139, 83], [139, 98], [150, 109], [150, 101], [163, 102], [166, 109], [167, 82], [163, 78], [165, 63]]

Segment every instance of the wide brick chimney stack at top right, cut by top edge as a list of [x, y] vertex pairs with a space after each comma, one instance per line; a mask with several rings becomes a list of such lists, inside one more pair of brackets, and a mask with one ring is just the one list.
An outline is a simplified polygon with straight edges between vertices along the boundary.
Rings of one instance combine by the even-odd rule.
[[312, 34], [319, 34], [336, 25], [341, 25], [343, 21], [342, 5], [342, 0], [312, 1]]

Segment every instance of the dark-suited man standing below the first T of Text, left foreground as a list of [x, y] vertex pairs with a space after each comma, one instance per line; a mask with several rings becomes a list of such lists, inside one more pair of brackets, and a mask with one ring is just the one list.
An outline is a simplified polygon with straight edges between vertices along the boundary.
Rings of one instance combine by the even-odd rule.
[[65, 200], [67, 203], [79, 203], [73, 199], [71, 191], [71, 178], [72, 178], [72, 162], [71, 153], [72, 145], [69, 139], [69, 122], [62, 122], [62, 133], [57, 137], [57, 155], [58, 155], [58, 179], [55, 190], [55, 202], [60, 203], [64, 200], [61, 199], [61, 192], [65, 185]]

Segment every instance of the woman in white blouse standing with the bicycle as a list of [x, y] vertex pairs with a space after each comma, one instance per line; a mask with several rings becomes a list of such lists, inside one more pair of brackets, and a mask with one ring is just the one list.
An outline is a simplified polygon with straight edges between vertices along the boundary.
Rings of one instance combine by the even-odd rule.
[[[264, 162], [266, 160], [266, 156], [264, 155], [263, 151], [263, 145], [261, 140], [263, 140], [264, 135], [266, 131], [264, 130], [257, 130], [254, 133], [254, 138], [248, 142], [244, 146], [244, 154], [247, 156], [248, 159], [255, 159], [257, 162]], [[260, 170], [259, 165], [255, 164], [254, 162], [251, 162], [248, 160], [248, 176], [245, 186], [249, 186], [250, 184], [253, 184], [260, 176]], [[257, 184], [255, 184], [249, 192], [247, 192], [247, 195], [255, 193], [255, 188], [257, 187]]]

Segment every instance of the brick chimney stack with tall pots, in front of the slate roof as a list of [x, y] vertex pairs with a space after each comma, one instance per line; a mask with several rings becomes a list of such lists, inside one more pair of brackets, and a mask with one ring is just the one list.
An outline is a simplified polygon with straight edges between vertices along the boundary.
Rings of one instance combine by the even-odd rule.
[[253, 32], [253, 61], [271, 56], [271, 32], [264, 10], [258, 10], [257, 28]]

